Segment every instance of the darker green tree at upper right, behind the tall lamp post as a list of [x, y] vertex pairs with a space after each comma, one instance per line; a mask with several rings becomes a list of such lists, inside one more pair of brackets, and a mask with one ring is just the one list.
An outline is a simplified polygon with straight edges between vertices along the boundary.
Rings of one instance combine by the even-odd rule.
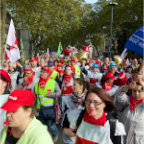
[[[118, 6], [113, 9], [113, 34], [119, 42], [119, 53], [128, 38], [143, 24], [143, 2], [141, 0], [115, 0]], [[105, 33], [110, 37], [111, 7], [109, 2], [99, 0], [90, 13], [89, 32]], [[106, 29], [103, 29], [105, 27]]]

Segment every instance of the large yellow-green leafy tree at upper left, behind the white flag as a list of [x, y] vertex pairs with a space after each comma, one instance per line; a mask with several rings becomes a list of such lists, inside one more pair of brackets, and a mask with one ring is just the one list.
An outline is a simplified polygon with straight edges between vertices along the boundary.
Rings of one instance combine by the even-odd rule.
[[58, 37], [60, 41], [73, 25], [74, 30], [79, 28], [83, 2], [84, 0], [7, 0], [17, 26], [30, 30], [30, 43], [36, 45], [35, 56], [49, 37]]

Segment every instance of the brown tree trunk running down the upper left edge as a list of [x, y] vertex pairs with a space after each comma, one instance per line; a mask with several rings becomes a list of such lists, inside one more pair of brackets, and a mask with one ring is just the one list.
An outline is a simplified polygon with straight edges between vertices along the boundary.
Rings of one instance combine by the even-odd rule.
[[4, 34], [6, 19], [6, 0], [1, 0], [1, 21], [0, 21], [0, 60], [3, 61], [4, 54]]

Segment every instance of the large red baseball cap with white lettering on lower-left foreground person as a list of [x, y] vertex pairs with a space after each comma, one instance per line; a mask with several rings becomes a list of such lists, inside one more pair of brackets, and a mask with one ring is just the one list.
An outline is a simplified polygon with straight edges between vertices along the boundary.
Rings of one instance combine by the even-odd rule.
[[1, 107], [1, 109], [8, 112], [14, 112], [23, 105], [33, 105], [35, 99], [35, 95], [31, 91], [15, 89], [10, 93], [8, 101]]

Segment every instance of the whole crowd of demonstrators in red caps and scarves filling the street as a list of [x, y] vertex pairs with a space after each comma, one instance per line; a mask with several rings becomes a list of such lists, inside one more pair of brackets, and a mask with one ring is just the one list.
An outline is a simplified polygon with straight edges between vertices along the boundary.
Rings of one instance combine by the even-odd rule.
[[43, 56], [3, 63], [0, 144], [58, 143], [59, 122], [65, 144], [143, 144], [142, 61]]

